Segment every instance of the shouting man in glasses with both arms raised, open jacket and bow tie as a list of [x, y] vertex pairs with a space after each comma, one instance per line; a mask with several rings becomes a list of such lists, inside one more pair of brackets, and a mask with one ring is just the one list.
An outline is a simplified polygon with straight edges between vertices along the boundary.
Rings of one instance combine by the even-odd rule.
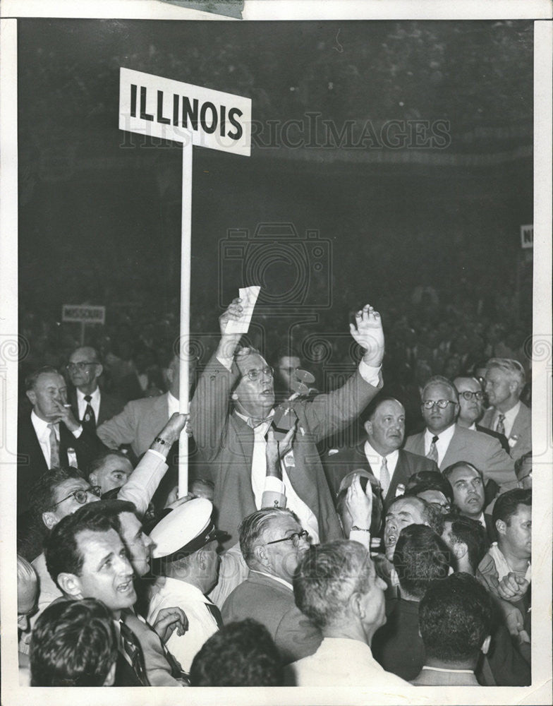
[[[236, 542], [242, 518], [264, 506], [267, 492], [286, 496], [286, 507], [298, 515], [314, 542], [343, 537], [316, 444], [356, 419], [382, 387], [384, 334], [379, 313], [368, 304], [356, 313], [350, 331], [365, 353], [358, 371], [341, 388], [277, 409], [272, 368], [257, 350], [239, 347], [241, 333], [226, 330], [228, 323], [241, 320], [242, 313], [241, 299], [234, 299], [219, 318], [219, 347], [190, 407], [200, 460], [215, 484], [219, 525], [230, 535], [226, 546]], [[282, 419], [281, 414], [289, 420], [293, 438], [288, 436], [281, 462], [272, 472], [265, 456], [267, 431], [273, 417]], [[283, 429], [282, 421], [279, 424]], [[277, 505], [283, 506], [278, 498]]]

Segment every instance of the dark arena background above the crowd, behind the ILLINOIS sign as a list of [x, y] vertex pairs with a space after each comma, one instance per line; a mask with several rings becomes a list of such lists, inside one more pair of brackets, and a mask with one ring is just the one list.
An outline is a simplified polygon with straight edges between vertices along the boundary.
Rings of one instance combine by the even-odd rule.
[[490, 354], [528, 367], [532, 23], [25, 19], [20, 381], [78, 342], [63, 304], [107, 307], [86, 331], [104, 356], [148, 345], [162, 365], [178, 338], [181, 145], [119, 131], [121, 66], [252, 99], [250, 157], [194, 148], [200, 359], [238, 287], [260, 284], [251, 336], [267, 354], [292, 342], [320, 389], [349, 369], [365, 302], [390, 389]]

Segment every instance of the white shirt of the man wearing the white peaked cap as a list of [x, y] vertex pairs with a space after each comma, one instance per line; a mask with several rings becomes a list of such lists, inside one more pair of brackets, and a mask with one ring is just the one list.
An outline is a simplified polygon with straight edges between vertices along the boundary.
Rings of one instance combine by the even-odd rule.
[[162, 608], [183, 609], [188, 618], [188, 630], [177, 635], [176, 630], [166, 642], [166, 647], [178, 659], [184, 671], [190, 671], [195, 654], [213, 633], [217, 633], [217, 621], [209, 612], [210, 601], [199, 588], [175, 578], [166, 578], [164, 585], [154, 593], [150, 601], [147, 621], [153, 625]]

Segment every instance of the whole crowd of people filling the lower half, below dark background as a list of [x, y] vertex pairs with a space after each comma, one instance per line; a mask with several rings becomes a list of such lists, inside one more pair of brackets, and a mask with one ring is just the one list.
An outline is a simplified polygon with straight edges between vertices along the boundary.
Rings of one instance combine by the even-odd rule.
[[521, 332], [440, 327], [434, 295], [414, 294], [417, 334], [384, 313], [386, 358], [372, 306], [344, 321], [359, 359], [334, 386], [305, 351], [275, 346], [267, 361], [233, 333], [240, 299], [202, 354], [174, 353], [174, 321], [137, 345], [122, 328], [115, 350], [107, 335], [67, 337], [51, 359], [32, 349], [21, 683], [529, 685]]

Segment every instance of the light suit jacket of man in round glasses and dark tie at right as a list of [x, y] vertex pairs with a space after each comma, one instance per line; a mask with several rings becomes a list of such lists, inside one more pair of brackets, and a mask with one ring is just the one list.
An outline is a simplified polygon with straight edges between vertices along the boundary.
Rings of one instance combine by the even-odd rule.
[[[405, 449], [411, 453], [425, 455], [425, 433], [409, 436]], [[454, 435], [449, 442], [442, 463], [441, 471], [457, 461], [468, 461], [484, 474], [485, 479], [491, 478], [498, 485], [516, 486], [516, 475], [513, 459], [501, 448], [497, 439], [480, 431], [470, 431], [463, 426], [455, 425]]]

